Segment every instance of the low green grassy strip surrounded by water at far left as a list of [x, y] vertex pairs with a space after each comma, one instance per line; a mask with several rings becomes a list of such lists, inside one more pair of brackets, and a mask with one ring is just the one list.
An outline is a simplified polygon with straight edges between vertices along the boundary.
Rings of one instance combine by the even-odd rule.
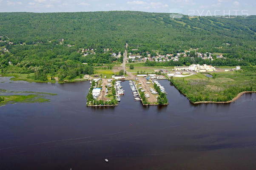
[[0, 96], [4, 101], [0, 102], [0, 106], [6, 105], [7, 103], [17, 103], [17, 102], [49, 102], [50, 99], [40, 98], [40, 96], [35, 94], [29, 95], [11, 95], [11, 96]]

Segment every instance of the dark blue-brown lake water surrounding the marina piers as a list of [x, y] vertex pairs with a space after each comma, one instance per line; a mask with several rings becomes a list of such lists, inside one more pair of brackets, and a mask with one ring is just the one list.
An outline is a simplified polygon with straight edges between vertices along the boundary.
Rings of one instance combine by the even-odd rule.
[[169, 105], [143, 106], [126, 81], [119, 106], [92, 108], [89, 82], [0, 82], [10, 91], [58, 94], [0, 107], [1, 170], [256, 169], [256, 94], [192, 105], [161, 80]]

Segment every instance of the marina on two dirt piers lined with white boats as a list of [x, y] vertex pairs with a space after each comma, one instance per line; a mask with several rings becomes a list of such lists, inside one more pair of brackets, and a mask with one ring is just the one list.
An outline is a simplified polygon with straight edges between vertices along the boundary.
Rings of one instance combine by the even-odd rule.
[[[121, 83], [125, 81], [129, 81], [131, 93], [134, 96], [135, 101], [142, 101], [140, 93], [143, 93], [143, 97], [145, 96], [145, 98], [143, 99], [147, 99], [147, 103], [145, 103], [145, 101], [142, 101], [143, 105], [157, 105], [159, 93], [154, 88], [155, 84], [157, 85], [157, 87], [160, 88], [161, 93], [166, 94], [165, 88], [159, 83], [158, 79], [148, 79], [147, 77], [138, 77], [135, 80], [113, 80], [98, 78], [90, 81], [91, 86], [92, 82], [94, 82], [92, 91], [94, 100], [109, 102], [111, 100], [111, 96], [114, 96], [114, 100], [116, 100], [118, 103], [121, 102], [121, 96], [125, 95], [125, 91], [123, 90]], [[87, 105], [88, 104], [89, 106], [103, 105], [92, 105], [92, 101], [87, 102]]]

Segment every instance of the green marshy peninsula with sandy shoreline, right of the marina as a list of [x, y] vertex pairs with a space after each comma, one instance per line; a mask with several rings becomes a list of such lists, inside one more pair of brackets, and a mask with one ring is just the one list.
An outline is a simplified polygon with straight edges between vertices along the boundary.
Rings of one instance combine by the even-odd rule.
[[243, 91], [256, 91], [256, 71], [215, 72], [212, 78], [203, 74], [175, 77], [171, 82], [191, 102], [227, 102]]

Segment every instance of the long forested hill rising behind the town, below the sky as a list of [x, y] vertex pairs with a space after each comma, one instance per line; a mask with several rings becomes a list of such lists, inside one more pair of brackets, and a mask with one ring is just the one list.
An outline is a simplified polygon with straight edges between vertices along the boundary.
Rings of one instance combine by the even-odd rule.
[[[254, 51], [256, 16], [188, 17], [170, 19], [168, 13], [99, 11], [77, 13], [0, 13], [0, 36], [18, 44], [64, 39], [77, 48], [155, 50], [203, 48], [229, 53]], [[229, 43], [228, 47], [223, 44]]]

